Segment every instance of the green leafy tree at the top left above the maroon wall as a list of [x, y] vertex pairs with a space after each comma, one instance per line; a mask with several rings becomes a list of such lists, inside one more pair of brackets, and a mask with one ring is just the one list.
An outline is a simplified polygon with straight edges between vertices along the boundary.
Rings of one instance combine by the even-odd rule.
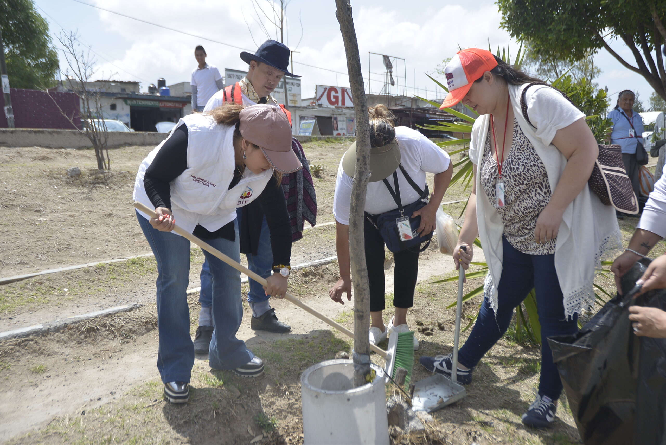
[[35, 11], [33, 1], [0, 0], [0, 11], [11, 87], [52, 87], [58, 69], [58, 54], [49, 36], [49, 25]]

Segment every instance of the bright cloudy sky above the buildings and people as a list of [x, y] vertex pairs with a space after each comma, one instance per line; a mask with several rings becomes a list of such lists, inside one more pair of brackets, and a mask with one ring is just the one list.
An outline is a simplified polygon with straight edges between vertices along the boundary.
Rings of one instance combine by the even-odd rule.
[[[193, 55], [196, 45], [204, 45], [208, 63], [216, 65], [224, 75], [224, 68], [246, 67], [236, 47], [254, 52], [267, 38], [253, 18], [256, 15], [251, 0], [81, 1], [220, 42], [121, 17], [75, 0], [35, 0], [37, 11], [49, 22], [56, 45], [55, 35], [77, 31], [80, 41], [95, 53], [93, 57], [99, 67], [96, 78], [140, 81], [142, 91], [157, 83], [159, 77], [165, 77], [167, 85], [189, 81], [196, 67]], [[266, 0], [259, 1], [266, 4]], [[402, 57], [406, 61], [404, 66], [399, 62], [394, 69], [399, 75], [406, 75], [406, 79], [394, 76], [400, 84], [400, 93], [406, 89], [406, 93], [412, 94], [416, 88], [416, 93], [423, 96], [427, 88], [429, 98], [443, 97], [442, 91], [435, 91], [434, 83], [424, 73], [432, 73], [459, 46], [487, 48], [490, 41], [494, 49], [498, 45], [517, 49], [515, 42], [500, 29], [500, 13], [491, 0], [449, 0], [446, 4], [432, 0], [352, 0], [352, 5], [364, 77], [368, 77], [369, 52]], [[290, 49], [299, 51], [294, 54], [294, 73], [303, 76], [302, 97], [312, 97], [316, 84], [348, 86], [335, 2], [292, 0], [287, 17], [288, 33], [284, 40]], [[269, 27], [268, 31], [274, 38], [274, 29]], [[611, 46], [627, 61], [633, 61], [625, 45]], [[608, 87], [613, 105], [617, 92], [623, 89], [639, 92], [647, 105], [652, 89], [643, 77], [622, 67], [604, 50], [599, 51], [595, 61], [603, 71], [597, 81], [600, 87]], [[381, 64], [378, 56], [370, 59], [373, 72], [384, 71]], [[373, 93], [380, 89], [380, 78], [374, 74], [370, 77]], [[394, 87], [392, 93], [396, 92]]]

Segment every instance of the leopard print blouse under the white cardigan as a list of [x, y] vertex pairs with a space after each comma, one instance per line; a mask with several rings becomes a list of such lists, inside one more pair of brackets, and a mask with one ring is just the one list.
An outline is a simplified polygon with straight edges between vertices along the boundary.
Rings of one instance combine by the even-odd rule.
[[499, 178], [498, 165], [492, 156], [490, 138], [481, 162], [481, 185], [504, 223], [504, 236], [517, 250], [531, 255], [555, 253], [555, 240], [537, 244], [534, 228], [537, 217], [552, 195], [545, 165], [533, 145], [513, 119], [513, 143], [502, 165], [504, 207], [498, 207], [495, 184]]

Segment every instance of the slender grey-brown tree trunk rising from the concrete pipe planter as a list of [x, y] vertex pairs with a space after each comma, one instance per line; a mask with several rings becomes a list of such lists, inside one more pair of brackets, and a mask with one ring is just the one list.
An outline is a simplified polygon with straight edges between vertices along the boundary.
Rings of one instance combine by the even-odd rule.
[[366, 268], [365, 236], [363, 232], [366, 190], [370, 179], [370, 119], [358, 55], [358, 41], [352, 19], [350, 0], [336, 0], [336, 17], [340, 22], [342, 40], [347, 54], [347, 71], [356, 115], [356, 173], [352, 185], [349, 217], [349, 251], [354, 288], [354, 385], [367, 383], [370, 374], [370, 287]]

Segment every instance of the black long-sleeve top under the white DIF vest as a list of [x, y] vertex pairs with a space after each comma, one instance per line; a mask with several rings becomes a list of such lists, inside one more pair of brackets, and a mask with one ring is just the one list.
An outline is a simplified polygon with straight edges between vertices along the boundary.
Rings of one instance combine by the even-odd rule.
[[[151, 203], [157, 207], [171, 209], [171, 188], [169, 183], [182, 175], [187, 169], [187, 140], [188, 133], [185, 125], [180, 125], [176, 131], [165, 141], [162, 148], [155, 155], [153, 163], [146, 169], [143, 179], [146, 193]], [[240, 181], [242, 173], [239, 169], [234, 171], [234, 178], [229, 183], [231, 189]], [[282, 187], [278, 185], [275, 177], [271, 177], [256, 201], [260, 205], [266, 223], [270, 230], [270, 247], [273, 253], [273, 266], [289, 264], [291, 257], [291, 222], [287, 212], [286, 201]], [[214, 232], [197, 225], [192, 232], [194, 236], [202, 239], [224, 238], [236, 239], [234, 222], [218, 228]]]

